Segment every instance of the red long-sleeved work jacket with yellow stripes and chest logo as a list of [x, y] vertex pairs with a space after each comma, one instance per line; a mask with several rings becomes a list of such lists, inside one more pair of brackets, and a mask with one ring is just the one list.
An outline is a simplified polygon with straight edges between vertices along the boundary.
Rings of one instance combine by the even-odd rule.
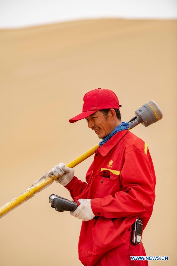
[[138, 216], [143, 229], [150, 219], [156, 179], [147, 144], [128, 130], [117, 132], [95, 151], [86, 182], [74, 176], [66, 188], [73, 200], [91, 199], [98, 217], [82, 222], [78, 243], [80, 261], [93, 266], [130, 239]]

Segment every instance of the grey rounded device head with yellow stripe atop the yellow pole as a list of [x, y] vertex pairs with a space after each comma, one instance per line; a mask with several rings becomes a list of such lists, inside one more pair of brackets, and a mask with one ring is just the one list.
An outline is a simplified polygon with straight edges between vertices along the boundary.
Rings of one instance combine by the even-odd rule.
[[129, 121], [130, 129], [140, 123], [143, 124], [143, 126], [149, 126], [163, 117], [160, 107], [153, 100], [149, 100], [147, 103], [143, 104], [143, 106], [135, 111], [135, 115], [136, 116]]

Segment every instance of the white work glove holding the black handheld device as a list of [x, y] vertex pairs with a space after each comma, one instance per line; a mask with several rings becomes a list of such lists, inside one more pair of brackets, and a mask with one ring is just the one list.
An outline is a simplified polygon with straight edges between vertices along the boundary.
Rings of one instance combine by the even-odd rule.
[[70, 214], [86, 222], [93, 219], [95, 215], [91, 209], [91, 199], [79, 199], [78, 202], [80, 205], [74, 212], [70, 212]]

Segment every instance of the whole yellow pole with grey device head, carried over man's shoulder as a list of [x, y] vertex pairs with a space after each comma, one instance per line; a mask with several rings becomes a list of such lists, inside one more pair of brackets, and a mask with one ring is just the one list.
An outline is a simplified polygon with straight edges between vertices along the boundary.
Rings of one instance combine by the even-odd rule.
[[[159, 121], [163, 117], [160, 107], [153, 100], [148, 101], [139, 109], [137, 109], [135, 111], [135, 115], [136, 116], [129, 121], [130, 123], [129, 130], [140, 123], [143, 124], [143, 126], [149, 126]], [[93, 155], [98, 147], [99, 144], [88, 150], [86, 153], [83, 153], [78, 158], [68, 163], [66, 166], [73, 168], [74, 166], [78, 165], [79, 163], [83, 162], [85, 159]], [[51, 176], [49, 173], [46, 173], [40, 179], [35, 181], [35, 183], [32, 184], [30, 188], [22, 192], [22, 194], [20, 194], [18, 197], [15, 197], [14, 199], [10, 200], [2, 207], [0, 207], [0, 218], [3, 215], [7, 214], [9, 211], [13, 210], [18, 205], [21, 205], [23, 202], [35, 196], [35, 194], [37, 194], [39, 191], [52, 184], [57, 178], [60, 177]]]

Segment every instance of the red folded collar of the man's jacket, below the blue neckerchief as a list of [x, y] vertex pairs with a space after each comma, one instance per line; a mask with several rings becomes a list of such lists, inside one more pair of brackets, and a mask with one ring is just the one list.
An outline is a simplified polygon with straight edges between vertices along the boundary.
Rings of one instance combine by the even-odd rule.
[[98, 147], [97, 151], [99, 151], [102, 156], [107, 155], [127, 132], [127, 129], [117, 132], [114, 136], [112, 136], [112, 138], [110, 138], [110, 140], [104, 143], [101, 147]]

